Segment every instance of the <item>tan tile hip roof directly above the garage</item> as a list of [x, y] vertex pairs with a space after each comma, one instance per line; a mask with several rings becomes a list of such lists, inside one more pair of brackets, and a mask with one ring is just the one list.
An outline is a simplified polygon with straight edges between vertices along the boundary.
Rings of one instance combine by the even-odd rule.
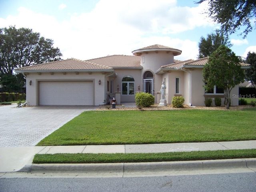
[[16, 69], [16, 71], [32, 71], [32, 70], [108, 70], [109, 66], [95, 64], [93, 62], [82, 61], [78, 59], [66, 59], [49, 63], [42, 63]]

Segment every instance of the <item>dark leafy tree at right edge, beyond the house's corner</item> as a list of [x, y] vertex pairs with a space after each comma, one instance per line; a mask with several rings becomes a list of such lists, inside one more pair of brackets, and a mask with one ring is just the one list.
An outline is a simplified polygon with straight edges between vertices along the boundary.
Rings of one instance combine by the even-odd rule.
[[256, 89], [256, 53], [248, 52], [246, 57], [246, 63], [251, 64], [250, 69], [245, 70], [245, 79], [250, 81]]

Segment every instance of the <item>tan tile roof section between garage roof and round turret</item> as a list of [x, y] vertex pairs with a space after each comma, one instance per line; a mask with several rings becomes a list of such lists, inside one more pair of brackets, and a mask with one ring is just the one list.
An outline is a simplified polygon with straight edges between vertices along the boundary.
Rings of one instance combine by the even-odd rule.
[[94, 62], [97, 64], [107, 65], [113, 68], [119, 67], [138, 67], [140, 65], [140, 56], [128, 56], [128, 55], [111, 55], [106, 57], [100, 57], [95, 59], [86, 60], [88, 62]]

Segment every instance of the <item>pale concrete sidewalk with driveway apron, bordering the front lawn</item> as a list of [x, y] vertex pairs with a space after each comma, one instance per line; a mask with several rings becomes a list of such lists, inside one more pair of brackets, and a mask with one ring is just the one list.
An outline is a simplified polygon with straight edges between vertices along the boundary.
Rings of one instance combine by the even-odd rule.
[[[35, 154], [56, 153], [159, 153], [190, 152], [206, 150], [256, 149], [256, 140], [232, 142], [201, 142], [141, 145], [86, 145], [86, 146], [31, 146], [1, 147], [0, 172], [16, 172], [25, 167], [32, 167]], [[256, 159], [253, 161], [256, 163]], [[150, 163], [147, 163], [150, 164]], [[110, 165], [110, 164], [109, 164]], [[53, 165], [51, 165], [53, 167]], [[74, 165], [64, 164], [64, 167]], [[79, 165], [78, 165], [79, 166]], [[80, 166], [84, 166], [80, 164]], [[100, 164], [94, 166], [100, 167]], [[105, 165], [106, 166], [106, 165]], [[255, 164], [256, 166], [256, 164]], [[36, 165], [33, 165], [36, 168]], [[42, 165], [40, 165], [42, 167]], [[60, 168], [60, 164], [58, 164]]]

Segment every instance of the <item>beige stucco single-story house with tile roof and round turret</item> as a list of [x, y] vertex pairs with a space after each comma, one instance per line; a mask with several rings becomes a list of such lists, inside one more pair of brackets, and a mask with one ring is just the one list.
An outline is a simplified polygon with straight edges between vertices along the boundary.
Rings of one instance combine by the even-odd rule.
[[[148, 92], [159, 103], [162, 82], [166, 100], [183, 96], [184, 104], [204, 106], [206, 97], [222, 98], [223, 90], [214, 87], [205, 92], [202, 69], [208, 58], [179, 61], [174, 56], [181, 50], [152, 45], [132, 51], [133, 56], [112, 55], [86, 61], [67, 59], [16, 69], [26, 77], [27, 104], [35, 105], [100, 105], [114, 96], [117, 104], [134, 102], [136, 92]], [[249, 68], [249, 64], [241, 64]], [[238, 95], [238, 86], [231, 95]], [[231, 98], [238, 105], [238, 98]]]

